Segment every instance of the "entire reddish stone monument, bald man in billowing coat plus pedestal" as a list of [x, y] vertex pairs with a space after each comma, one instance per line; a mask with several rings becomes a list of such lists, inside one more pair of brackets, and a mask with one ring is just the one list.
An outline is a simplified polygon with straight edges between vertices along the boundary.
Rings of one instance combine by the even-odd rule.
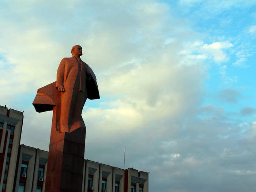
[[57, 81], [41, 87], [33, 105], [37, 112], [53, 110], [45, 192], [81, 192], [86, 126], [82, 110], [87, 98], [99, 99], [93, 70], [80, 56], [82, 47], [63, 58]]

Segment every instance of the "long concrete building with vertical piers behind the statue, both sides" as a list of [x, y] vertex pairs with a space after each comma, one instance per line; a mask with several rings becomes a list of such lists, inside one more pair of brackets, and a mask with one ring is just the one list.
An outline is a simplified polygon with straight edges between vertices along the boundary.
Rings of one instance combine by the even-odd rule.
[[[0, 106], [0, 192], [44, 192], [48, 151], [20, 144], [22, 124]], [[148, 173], [84, 159], [82, 192], [148, 192]]]

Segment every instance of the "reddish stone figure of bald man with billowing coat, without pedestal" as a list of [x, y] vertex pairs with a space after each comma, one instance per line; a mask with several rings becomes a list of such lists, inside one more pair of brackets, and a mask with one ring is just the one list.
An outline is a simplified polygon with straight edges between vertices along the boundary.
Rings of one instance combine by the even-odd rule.
[[89, 65], [80, 59], [82, 47], [73, 46], [71, 53], [72, 57], [61, 60], [57, 81], [38, 89], [33, 102], [37, 112], [53, 110], [52, 123], [58, 132], [85, 128], [81, 115], [84, 103], [87, 98], [99, 99], [96, 76]]

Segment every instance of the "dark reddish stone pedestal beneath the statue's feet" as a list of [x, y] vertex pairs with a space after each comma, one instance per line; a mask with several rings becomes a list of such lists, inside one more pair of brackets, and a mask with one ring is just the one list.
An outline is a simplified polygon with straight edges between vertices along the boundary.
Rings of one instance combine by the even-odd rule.
[[51, 131], [45, 192], [81, 192], [86, 128]]

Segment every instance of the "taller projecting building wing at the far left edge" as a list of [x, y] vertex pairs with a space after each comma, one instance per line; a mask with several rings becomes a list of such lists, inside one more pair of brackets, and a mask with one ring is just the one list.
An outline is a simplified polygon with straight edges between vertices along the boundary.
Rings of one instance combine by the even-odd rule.
[[0, 191], [14, 188], [23, 112], [0, 106]]

